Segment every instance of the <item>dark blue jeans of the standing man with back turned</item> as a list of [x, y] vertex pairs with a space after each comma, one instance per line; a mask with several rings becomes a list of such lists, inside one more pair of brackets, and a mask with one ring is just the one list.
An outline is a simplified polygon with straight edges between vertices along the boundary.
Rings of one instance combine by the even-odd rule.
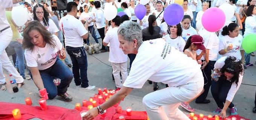
[[[88, 78], [87, 78], [87, 56], [85, 53], [84, 47], [71, 47], [66, 46], [67, 53], [69, 54], [73, 67], [72, 71], [74, 74], [76, 86], [88, 87]], [[80, 71], [80, 72], [79, 72]]]

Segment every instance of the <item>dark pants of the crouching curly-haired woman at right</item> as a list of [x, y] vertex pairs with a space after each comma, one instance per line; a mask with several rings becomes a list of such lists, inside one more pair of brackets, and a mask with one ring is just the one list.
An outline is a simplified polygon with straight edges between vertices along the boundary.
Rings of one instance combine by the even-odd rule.
[[[216, 104], [219, 108], [223, 108], [223, 103], [226, 102], [227, 94], [229, 93], [229, 89], [232, 86], [230, 81], [227, 81], [225, 77], [219, 77], [217, 82], [212, 81], [212, 97], [215, 100]], [[235, 105], [231, 102], [229, 108], [234, 107]]]

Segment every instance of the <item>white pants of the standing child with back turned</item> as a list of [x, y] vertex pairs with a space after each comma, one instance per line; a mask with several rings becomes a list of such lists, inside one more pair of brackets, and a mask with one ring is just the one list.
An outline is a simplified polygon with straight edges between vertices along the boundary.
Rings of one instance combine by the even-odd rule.
[[[113, 76], [115, 79], [116, 87], [121, 88], [122, 83], [125, 82], [127, 78], [127, 62], [125, 63], [111, 63], [112, 68], [113, 68]], [[120, 77], [120, 72], [122, 75], [122, 83], [121, 83], [121, 77]]]

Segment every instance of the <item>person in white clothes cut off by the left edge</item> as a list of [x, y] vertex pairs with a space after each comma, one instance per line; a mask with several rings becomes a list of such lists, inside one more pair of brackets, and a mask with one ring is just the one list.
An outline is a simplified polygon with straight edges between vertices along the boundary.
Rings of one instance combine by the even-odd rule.
[[0, 89], [6, 90], [6, 80], [3, 75], [3, 68], [5, 68], [15, 78], [17, 86], [21, 87], [24, 83], [23, 77], [20, 76], [18, 71], [14, 68], [9, 57], [5, 51], [5, 48], [12, 40], [12, 29], [6, 19], [5, 9], [12, 7], [14, 3], [18, 3], [21, 0], [0, 0]]

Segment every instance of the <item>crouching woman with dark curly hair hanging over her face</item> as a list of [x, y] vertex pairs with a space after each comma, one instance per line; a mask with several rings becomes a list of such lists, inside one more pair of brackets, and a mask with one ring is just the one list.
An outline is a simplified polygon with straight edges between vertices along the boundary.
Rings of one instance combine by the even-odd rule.
[[241, 60], [237, 61], [233, 56], [222, 57], [216, 61], [211, 92], [218, 108], [213, 113], [226, 117], [226, 110], [229, 108], [231, 115], [238, 114], [232, 100], [242, 83], [243, 69]]

